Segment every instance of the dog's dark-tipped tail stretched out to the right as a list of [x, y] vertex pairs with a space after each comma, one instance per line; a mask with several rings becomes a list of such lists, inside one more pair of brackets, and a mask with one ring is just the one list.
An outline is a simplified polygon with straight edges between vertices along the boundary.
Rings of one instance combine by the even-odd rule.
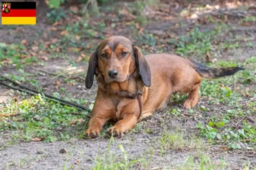
[[201, 65], [193, 60], [191, 66], [199, 73], [201, 77], [212, 79], [218, 77], [225, 77], [235, 74], [237, 71], [244, 70], [242, 67], [226, 67], [226, 68], [211, 68], [206, 65]]

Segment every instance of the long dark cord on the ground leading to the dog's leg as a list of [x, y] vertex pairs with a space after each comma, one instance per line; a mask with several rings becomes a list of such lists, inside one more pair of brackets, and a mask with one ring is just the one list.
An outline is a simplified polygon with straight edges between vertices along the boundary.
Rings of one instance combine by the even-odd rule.
[[15, 82], [15, 81], [9, 79], [8, 77], [1, 77], [0, 76], [0, 78], [5, 80], [5, 81], [12, 82], [13, 84], [15, 84], [16, 86], [19, 87], [19, 88], [16, 88], [16, 87], [10, 86], [9, 84], [7, 84], [7, 83], [5, 83], [5, 82], [0, 80], [0, 84], [2, 84], [3, 86], [6, 86], [8, 88], [12, 88], [12, 89], [15, 89], [15, 90], [23, 91], [23, 92], [26, 92], [27, 94], [32, 94], [32, 95], [42, 94], [42, 95], [44, 95], [45, 98], [51, 99], [51, 100], [53, 100], [55, 102], [59, 102], [62, 105], [68, 105], [68, 106], [71, 106], [71, 107], [75, 107], [79, 111], [89, 111], [89, 112], [91, 112], [91, 110], [88, 107], [84, 107], [83, 105], [78, 105], [78, 104], [75, 104], [73, 102], [70, 102], [70, 101], [67, 101], [67, 100], [64, 100], [64, 99], [56, 98], [56, 97], [51, 96], [49, 94], [44, 94], [43, 92], [38, 92], [37, 90], [34, 90], [32, 88], [27, 88], [26, 86], [24, 86], [24, 85], [22, 85], [22, 84], [20, 84], [18, 82]]

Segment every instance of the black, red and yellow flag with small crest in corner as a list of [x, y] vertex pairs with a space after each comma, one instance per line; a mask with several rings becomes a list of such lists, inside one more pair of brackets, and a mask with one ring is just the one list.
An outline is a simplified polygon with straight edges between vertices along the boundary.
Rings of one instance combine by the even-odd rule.
[[3, 2], [2, 25], [36, 25], [36, 2]]

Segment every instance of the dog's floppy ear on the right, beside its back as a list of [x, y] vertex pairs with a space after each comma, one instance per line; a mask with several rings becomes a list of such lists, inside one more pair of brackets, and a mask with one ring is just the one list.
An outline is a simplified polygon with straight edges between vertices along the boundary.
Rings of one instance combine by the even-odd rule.
[[137, 46], [133, 46], [133, 54], [136, 59], [139, 75], [142, 77], [144, 85], [149, 87], [151, 84], [151, 71], [148, 62]]

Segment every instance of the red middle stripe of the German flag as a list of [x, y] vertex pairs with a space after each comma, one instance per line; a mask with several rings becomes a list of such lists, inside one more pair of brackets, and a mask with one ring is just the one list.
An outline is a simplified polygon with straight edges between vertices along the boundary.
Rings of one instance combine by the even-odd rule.
[[9, 14], [3, 13], [2, 10], [2, 17], [36, 17], [37, 11], [36, 9], [10, 9]]

